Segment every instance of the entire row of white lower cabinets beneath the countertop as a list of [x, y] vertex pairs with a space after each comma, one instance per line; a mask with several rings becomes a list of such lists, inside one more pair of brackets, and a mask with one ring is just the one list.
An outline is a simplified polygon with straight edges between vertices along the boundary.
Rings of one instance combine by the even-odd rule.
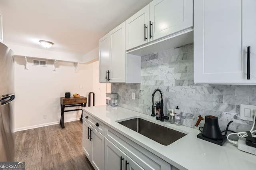
[[97, 118], [83, 114], [82, 148], [96, 170], [176, 170]]

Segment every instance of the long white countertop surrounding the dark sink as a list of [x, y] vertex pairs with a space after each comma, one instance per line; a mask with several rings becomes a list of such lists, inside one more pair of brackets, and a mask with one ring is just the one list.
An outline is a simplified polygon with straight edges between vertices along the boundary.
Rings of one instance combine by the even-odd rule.
[[[156, 120], [156, 117], [122, 107], [102, 105], [82, 109], [180, 170], [256, 169], [256, 155], [238, 150], [237, 146], [229, 142], [219, 146], [199, 139], [196, 135], [200, 131], [194, 128], [173, 125], [169, 121], [160, 122]], [[128, 120], [132, 117], [141, 117], [187, 135], [168, 146], [164, 146], [116, 122], [122, 119]]]

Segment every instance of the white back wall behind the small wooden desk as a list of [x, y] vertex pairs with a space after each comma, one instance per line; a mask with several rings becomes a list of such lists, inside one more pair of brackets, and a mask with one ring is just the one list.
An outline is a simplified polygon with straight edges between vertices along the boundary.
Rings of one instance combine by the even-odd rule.
[[[65, 92], [88, 97], [93, 90], [93, 64], [80, 64], [76, 73], [75, 64], [70, 62], [58, 61], [56, 71], [52, 71], [50, 60], [46, 60], [47, 67], [42, 67], [33, 66], [32, 58], [28, 58], [28, 70], [24, 63], [23, 57], [15, 57], [15, 131], [59, 123], [60, 97]], [[81, 112], [64, 113], [64, 121], [79, 119]], [[47, 118], [43, 119], [43, 115]]]

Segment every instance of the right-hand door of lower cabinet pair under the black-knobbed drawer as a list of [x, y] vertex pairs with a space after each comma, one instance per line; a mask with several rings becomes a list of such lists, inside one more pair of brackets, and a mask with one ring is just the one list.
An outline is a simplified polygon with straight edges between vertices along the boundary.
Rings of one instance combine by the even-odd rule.
[[104, 136], [92, 127], [92, 166], [96, 170], [104, 170]]

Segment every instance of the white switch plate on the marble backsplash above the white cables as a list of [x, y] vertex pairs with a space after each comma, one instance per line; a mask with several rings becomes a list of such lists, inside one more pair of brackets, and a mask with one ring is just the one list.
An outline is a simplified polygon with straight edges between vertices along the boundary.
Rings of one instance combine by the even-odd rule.
[[240, 119], [253, 122], [253, 109], [256, 109], [254, 105], [240, 105]]

